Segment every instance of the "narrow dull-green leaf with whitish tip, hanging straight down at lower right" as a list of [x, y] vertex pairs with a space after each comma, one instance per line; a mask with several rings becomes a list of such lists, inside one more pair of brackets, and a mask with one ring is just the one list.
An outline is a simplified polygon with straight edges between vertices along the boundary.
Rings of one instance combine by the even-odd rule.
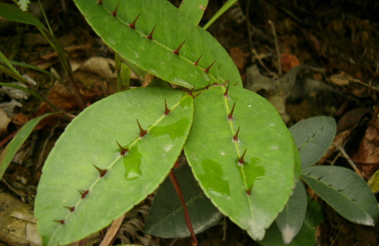
[[290, 197], [284, 210], [279, 213], [276, 223], [279, 227], [281, 237], [285, 244], [292, 242], [298, 234], [303, 224], [305, 213], [307, 211], [307, 193], [304, 184], [299, 181], [296, 184], [294, 193]]

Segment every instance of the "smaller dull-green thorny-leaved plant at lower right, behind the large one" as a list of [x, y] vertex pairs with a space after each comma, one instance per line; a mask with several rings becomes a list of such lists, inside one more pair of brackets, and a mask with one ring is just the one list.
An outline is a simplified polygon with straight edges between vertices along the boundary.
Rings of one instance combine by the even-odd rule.
[[360, 225], [375, 225], [379, 216], [378, 203], [357, 173], [339, 166], [311, 166], [332, 143], [336, 134], [334, 119], [325, 116], [310, 118], [293, 125], [290, 131], [299, 148], [301, 179], [276, 223], [271, 225], [259, 244], [315, 244], [314, 227], [322, 221], [322, 214], [317, 204], [308, 203], [303, 182], [347, 220]]

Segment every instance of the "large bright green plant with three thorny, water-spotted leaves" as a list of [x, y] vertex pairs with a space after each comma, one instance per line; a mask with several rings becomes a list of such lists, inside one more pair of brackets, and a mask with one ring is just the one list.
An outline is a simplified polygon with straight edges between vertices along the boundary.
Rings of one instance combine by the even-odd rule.
[[164, 0], [76, 4], [138, 76], [191, 92], [127, 90], [72, 121], [40, 179], [35, 215], [43, 244], [64, 245], [109, 225], [162, 183], [183, 147], [205, 195], [262, 239], [299, 175], [297, 149], [272, 105], [241, 88], [226, 51], [188, 21], [192, 12], [180, 12], [191, 8]]

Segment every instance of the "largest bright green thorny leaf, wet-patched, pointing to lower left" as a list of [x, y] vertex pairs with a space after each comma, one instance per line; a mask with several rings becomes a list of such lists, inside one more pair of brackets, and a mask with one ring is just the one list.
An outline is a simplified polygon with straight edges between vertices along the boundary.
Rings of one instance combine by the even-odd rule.
[[43, 245], [99, 231], [152, 193], [178, 159], [192, 117], [191, 96], [162, 88], [120, 92], [81, 112], [42, 169], [35, 216]]

